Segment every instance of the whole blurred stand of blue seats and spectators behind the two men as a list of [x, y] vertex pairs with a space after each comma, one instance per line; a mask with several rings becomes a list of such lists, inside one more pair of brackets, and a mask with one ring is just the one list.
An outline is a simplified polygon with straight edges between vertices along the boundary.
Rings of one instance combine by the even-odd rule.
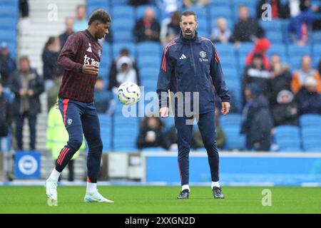
[[[220, 116], [217, 98], [218, 147], [320, 152], [321, 1], [73, 0], [72, 14], [63, 19], [58, 7], [65, 26], [58, 27], [61, 32], [51, 29], [54, 36], [37, 27], [50, 27], [51, 21], [37, 18], [41, 1], [0, 1], [2, 151], [52, 150], [54, 155], [54, 145], [66, 141], [59, 138], [64, 129], [54, 108], [63, 75], [56, 60], [68, 36], [86, 29], [91, 12], [103, 8], [113, 20], [110, 34], [100, 40], [94, 100], [104, 151], [176, 150], [173, 118], [125, 118], [115, 93], [126, 81], [143, 86], [145, 93], [156, 91], [163, 47], [180, 32], [180, 12], [190, 9], [198, 14], [198, 35], [210, 38], [218, 50], [232, 94], [226, 116]], [[264, 4], [270, 6], [268, 14]], [[49, 15], [51, 9], [43, 10]], [[193, 149], [204, 150], [197, 125]]]

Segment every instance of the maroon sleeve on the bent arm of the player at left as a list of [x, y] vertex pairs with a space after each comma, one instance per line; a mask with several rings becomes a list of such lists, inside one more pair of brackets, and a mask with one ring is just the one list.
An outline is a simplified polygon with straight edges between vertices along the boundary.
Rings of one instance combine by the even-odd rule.
[[76, 59], [78, 48], [81, 47], [81, 34], [73, 33], [68, 37], [63, 46], [60, 56], [58, 57], [58, 64], [63, 66], [67, 71], [81, 72], [82, 64], [73, 61]]

